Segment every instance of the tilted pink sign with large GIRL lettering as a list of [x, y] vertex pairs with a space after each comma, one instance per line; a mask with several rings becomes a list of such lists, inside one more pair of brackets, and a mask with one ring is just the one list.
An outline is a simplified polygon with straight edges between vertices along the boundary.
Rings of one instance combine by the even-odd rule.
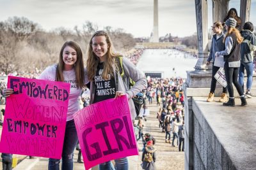
[[86, 169], [139, 154], [126, 96], [87, 106], [74, 121]]

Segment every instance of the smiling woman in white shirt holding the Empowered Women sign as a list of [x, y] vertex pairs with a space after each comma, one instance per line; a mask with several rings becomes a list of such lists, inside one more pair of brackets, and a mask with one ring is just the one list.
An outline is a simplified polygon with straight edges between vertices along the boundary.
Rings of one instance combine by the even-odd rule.
[[[61, 47], [58, 63], [47, 67], [39, 79], [70, 83], [67, 122], [61, 157], [62, 169], [72, 170], [74, 149], [78, 141], [73, 115], [80, 109], [78, 97], [81, 95], [84, 85], [88, 83], [83, 64], [83, 53], [79, 45], [73, 41], [65, 42]], [[8, 97], [11, 94], [13, 94], [13, 89], [4, 90], [4, 96]], [[50, 158], [48, 169], [60, 169], [60, 159]]]

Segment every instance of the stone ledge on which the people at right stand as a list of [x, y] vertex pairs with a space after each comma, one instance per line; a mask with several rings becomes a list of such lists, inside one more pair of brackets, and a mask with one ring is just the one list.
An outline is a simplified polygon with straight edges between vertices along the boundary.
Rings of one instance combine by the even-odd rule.
[[192, 101], [194, 168], [256, 169], [256, 97], [246, 106], [237, 97], [235, 107], [205, 99]]

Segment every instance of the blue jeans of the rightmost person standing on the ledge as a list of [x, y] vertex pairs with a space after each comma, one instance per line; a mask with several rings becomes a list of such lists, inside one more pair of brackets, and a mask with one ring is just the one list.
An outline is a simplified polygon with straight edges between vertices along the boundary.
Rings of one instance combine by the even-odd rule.
[[246, 90], [250, 90], [252, 88], [252, 76], [253, 76], [253, 62], [246, 62], [242, 63], [239, 68], [239, 84], [242, 86], [244, 90], [244, 69], [246, 70], [247, 74], [247, 82], [246, 82]]

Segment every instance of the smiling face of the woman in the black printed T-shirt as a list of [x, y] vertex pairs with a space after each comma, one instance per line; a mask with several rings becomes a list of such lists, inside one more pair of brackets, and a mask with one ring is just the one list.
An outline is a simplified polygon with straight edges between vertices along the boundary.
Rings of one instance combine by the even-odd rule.
[[108, 43], [106, 36], [95, 36], [92, 38], [92, 50], [99, 57], [100, 62], [106, 60], [106, 53], [108, 52]]

